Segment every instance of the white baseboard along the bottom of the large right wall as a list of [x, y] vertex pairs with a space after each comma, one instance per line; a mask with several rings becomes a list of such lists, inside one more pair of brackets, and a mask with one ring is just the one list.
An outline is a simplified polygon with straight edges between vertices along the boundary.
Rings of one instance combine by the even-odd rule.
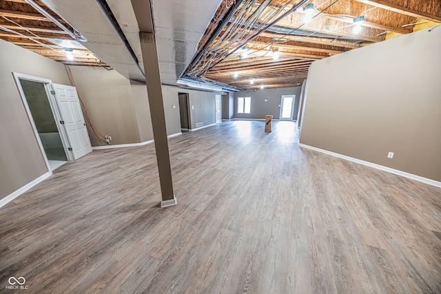
[[380, 169], [382, 171], [387, 171], [387, 172], [389, 172], [391, 174], [396, 174], [398, 176], [403, 176], [404, 178], [410, 178], [411, 180], [418, 180], [418, 182], [424, 182], [425, 184], [429, 184], [429, 185], [441, 188], [441, 182], [438, 182], [436, 180], [431, 180], [429, 178], [423, 178], [422, 176], [417, 176], [417, 175], [414, 175], [414, 174], [409, 174], [409, 173], [407, 173], [405, 171], [399, 171], [398, 169], [391, 169], [390, 167], [384, 167], [384, 165], [377, 165], [376, 163], [372, 163], [372, 162], [369, 162], [369, 161], [360, 160], [360, 159], [357, 159], [357, 158], [345, 156], [345, 155], [342, 155], [342, 154], [338, 154], [338, 153], [335, 153], [335, 152], [332, 152], [332, 151], [327, 151], [325, 149], [320, 149], [320, 148], [317, 148], [317, 147], [312, 147], [312, 146], [305, 145], [305, 144], [302, 144], [302, 143], [298, 143], [298, 146], [305, 147], [307, 149], [318, 151], [318, 152], [321, 152], [321, 153], [324, 153], [324, 154], [328, 154], [330, 156], [336, 156], [338, 158], [342, 158], [342, 159], [345, 159], [345, 160], [356, 162], [356, 163], [359, 163], [360, 165], [367, 165], [368, 167], [373, 167], [374, 169]]

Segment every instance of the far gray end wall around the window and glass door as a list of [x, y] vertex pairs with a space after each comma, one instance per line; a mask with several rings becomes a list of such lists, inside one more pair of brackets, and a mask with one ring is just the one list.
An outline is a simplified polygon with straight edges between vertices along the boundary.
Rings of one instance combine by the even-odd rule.
[[[272, 115], [273, 119], [278, 119], [280, 116], [280, 103], [282, 95], [296, 95], [296, 102], [294, 103], [294, 118], [297, 119], [298, 101], [300, 97], [301, 87], [286, 87], [280, 89], [263, 89], [246, 90], [234, 94], [234, 118], [247, 119], [265, 119], [265, 116]], [[238, 114], [237, 113], [237, 98], [251, 97], [251, 113]], [[267, 100], [267, 101], [265, 101]]]

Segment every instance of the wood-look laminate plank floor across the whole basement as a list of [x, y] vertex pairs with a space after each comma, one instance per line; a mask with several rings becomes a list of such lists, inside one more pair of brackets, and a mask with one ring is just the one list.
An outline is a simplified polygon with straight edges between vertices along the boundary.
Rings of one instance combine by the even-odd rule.
[[[441, 293], [441, 189], [232, 121], [93, 151], [0, 209], [0, 292]], [[24, 292], [23, 292], [24, 293]]]

